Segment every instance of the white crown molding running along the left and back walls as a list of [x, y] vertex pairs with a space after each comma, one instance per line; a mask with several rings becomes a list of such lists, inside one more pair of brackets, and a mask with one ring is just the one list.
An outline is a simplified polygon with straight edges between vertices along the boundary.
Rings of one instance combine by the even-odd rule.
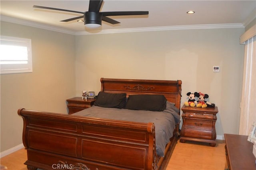
[[168, 31], [168, 30], [195, 30], [195, 29], [219, 29], [219, 28], [244, 28], [242, 23], [234, 24], [203, 24], [203, 25], [182, 25], [182, 26], [158, 26], [158, 27], [145, 27], [145, 28], [127, 28], [127, 29], [112, 29], [112, 30], [96, 30], [96, 31], [80, 31], [75, 32], [58, 28], [54, 26], [48, 26], [45, 24], [39, 24], [37, 22], [22, 20], [18, 18], [12, 18], [9, 16], [0, 16], [1, 21], [11, 22], [14, 24], [21, 24], [25, 26], [31, 26], [35, 28], [41, 28], [45, 30], [51, 30], [56, 32], [62, 32], [65, 34], [72, 35], [93, 35], [93, 34], [114, 34], [114, 33], [125, 33], [125, 32], [148, 32], [148, 31]]

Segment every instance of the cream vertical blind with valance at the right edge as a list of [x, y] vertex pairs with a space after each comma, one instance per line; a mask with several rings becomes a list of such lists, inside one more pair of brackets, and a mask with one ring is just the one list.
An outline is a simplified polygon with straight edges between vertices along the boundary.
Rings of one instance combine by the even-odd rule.
[[240, 43], [244, 44], [244, 72], [239, 134], [248, 135], [256, 122], [256, 25], [240, 37]]

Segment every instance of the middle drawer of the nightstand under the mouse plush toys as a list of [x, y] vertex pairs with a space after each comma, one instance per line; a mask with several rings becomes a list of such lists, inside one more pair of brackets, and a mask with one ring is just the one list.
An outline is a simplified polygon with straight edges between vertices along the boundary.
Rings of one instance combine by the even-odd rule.
[[212, 121], [186, 119], [186, 128], [212, 130]]

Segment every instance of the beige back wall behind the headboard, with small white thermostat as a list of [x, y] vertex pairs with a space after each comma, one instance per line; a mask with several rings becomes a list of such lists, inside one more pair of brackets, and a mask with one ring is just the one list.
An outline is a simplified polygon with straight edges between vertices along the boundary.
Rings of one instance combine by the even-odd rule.
[[[218, 106], [217, 135], [238, 134], [244, 28], [172, 30], [76, 36], [76, 95], [98, 93], [100, 78], [182, 80]], [[220, 72], [213, 72], [220, 66]]]

